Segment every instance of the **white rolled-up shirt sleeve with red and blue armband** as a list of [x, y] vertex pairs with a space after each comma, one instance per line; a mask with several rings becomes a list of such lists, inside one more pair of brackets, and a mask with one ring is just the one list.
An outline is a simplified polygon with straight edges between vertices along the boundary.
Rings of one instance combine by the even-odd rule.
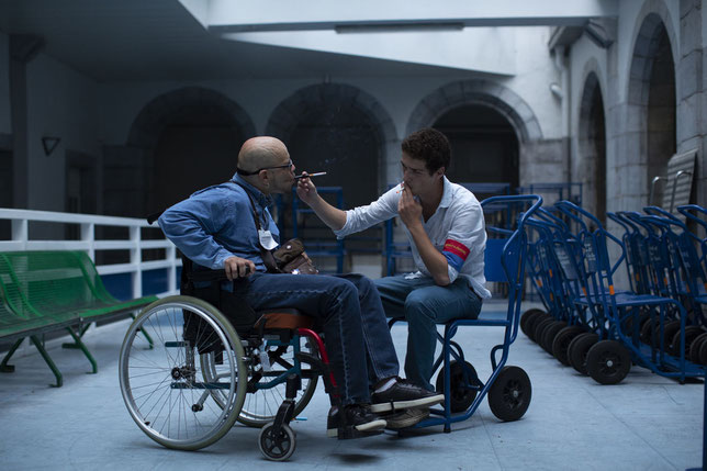
[[457, 211], [447, 234], [442, 255], [447, 258], [450, 282], [453, 282], [472, 253], [486, 245], [483, 211], [480, 204], [467, 204]]

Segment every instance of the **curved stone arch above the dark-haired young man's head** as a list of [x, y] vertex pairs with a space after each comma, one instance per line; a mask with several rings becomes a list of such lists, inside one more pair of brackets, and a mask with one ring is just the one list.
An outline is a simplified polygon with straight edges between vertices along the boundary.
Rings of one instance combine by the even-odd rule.
[[429, 93], [411, 113], [406, 134], [431, 125], [447, 111], [462, 104], [493, 108], [508, 120], [521, 143], [542, 139], [540, 123], [528, 103], [507, 87], [485, 79], [451, 82]]

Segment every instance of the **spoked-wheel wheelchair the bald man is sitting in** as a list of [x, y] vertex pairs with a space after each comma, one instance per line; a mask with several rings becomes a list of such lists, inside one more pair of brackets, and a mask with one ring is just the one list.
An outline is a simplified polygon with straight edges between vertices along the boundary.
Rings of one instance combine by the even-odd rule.
[[[184, 287], [197, 272], [183, 260], [181, 292], [190, 293]], [[223, 270], [211, 273], [214, 283], [225, 278]], [[296, 446], [289, 423], [307, 405], [319, 377], [337, 405], [314, 319], [296, 310], [254, 314], [255, 326], [239, 334], [212, 303], [182, 294], [158, 300], [135, 317], [121, 347], [120, 386], [130, 415], [149, 438], [198, 450], [239, 422], [260, 428], [258, 447], [266, 458], [284, 461]]]

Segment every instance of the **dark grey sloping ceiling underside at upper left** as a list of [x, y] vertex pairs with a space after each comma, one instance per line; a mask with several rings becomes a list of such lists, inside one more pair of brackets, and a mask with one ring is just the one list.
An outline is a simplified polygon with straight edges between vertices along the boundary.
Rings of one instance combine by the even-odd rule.
[[42, 36], [44, 53], [100, 82], [463, 74], [222, 40], [178, 0], [0, 0], [0, 30]]

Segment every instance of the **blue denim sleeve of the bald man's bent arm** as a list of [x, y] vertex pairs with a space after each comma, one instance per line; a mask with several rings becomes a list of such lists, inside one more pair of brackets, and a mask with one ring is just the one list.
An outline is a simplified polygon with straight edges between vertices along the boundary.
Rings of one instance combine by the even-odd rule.
[[235, 205], [227, 199], [211, 200], [192, 195], [162, 213], [158, 223], [162, 232], [189, 259], [218, 270], [224, 260], [233, 257], [214, 239], [225, 223], [225, 215], [235, 214]]

